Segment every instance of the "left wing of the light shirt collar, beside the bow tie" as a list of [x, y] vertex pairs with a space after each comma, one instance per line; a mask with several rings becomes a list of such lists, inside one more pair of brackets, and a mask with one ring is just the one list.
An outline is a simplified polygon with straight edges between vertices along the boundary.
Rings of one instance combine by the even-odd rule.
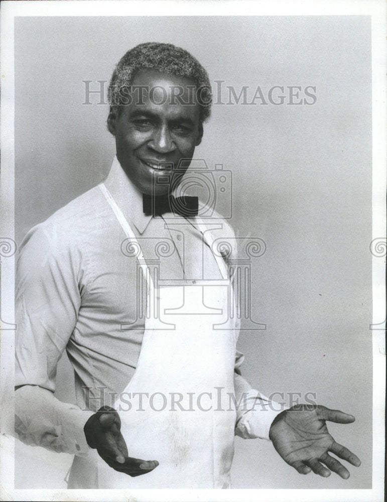
[[125, 218], [132, 221], [137, 230], [143, 233], [151, 221], [152, 215], [146, 216], [144, 214], [143, 194], [126, 176], [116, 156], [114, 156], [104, 184]]

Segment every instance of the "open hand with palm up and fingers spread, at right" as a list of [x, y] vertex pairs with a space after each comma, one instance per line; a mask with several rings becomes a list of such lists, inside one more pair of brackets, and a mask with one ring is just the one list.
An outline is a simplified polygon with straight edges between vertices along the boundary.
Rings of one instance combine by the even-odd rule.
[[350, 424], [355, 418], [325, 406], [296, 405], [275, 418], [270, 427], [269, 437], [285, 462], [300, 474], [308, 474], [312, 470], [315, 474], [327, 477], [333, 471], [343, 479], [347, 479], [348, 469], [328, 452], [356, 467], [361, 462], [345, 446], [336, 443], [328, 432], [325, 424], [327, 420]]

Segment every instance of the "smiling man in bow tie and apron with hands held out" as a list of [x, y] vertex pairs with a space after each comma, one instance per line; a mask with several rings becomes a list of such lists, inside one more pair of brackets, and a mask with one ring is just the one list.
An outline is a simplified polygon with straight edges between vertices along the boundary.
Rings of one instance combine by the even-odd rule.
[[[352, 416], [274, 411], [240, 375], [233, 232], [216, 213], [206, 222], [195, 197], [172, 197], [201, 142], [209, 89], [183, 49], [128, 51], [110, 82], [107, 179], [21, 246], [15, 427], [28, 444], [75, 454], [70, 488], [226, 488], [234, 434], [270, 438], [303, 474], [347, 478], [328, 451], [360, 464], [325, 425]], [[53, 396], [65, 349], [77, 406]]]

